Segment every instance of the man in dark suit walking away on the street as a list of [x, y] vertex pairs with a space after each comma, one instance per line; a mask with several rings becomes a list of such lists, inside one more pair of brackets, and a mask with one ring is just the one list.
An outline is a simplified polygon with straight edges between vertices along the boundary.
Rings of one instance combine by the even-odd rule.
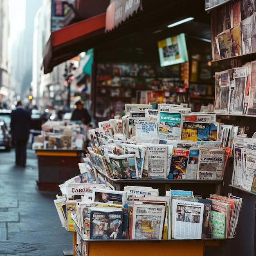
[[16, 164], [26, 166], [27, 141], [31, 126], [31, 115], [29, 110], [22, 107], [18, 101], [16, 110], [11, 112], [11, 135], [15, 145]]

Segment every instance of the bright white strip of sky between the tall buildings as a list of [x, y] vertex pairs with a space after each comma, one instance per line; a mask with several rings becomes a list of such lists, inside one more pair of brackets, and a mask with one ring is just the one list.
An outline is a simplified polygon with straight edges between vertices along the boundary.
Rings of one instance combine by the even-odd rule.
[[16, 38], [19, 31], [25, 29], [25, 4], [26, 0], [9, 0], [11, 41]]

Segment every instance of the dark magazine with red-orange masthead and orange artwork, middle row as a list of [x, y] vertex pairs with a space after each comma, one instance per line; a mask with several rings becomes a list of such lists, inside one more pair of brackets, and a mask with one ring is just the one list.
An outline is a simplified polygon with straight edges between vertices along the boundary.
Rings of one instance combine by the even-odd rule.
[[169, 179], [185, 179], [186, 168], [189, 159], [189, 150], [182, 148], [173, 148], [171, 157], [171, 167], [169, 171]]

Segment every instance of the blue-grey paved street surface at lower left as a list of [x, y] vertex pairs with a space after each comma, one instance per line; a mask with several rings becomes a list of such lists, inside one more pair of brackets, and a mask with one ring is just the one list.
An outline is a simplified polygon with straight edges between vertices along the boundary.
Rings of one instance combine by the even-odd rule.
[[0, 149], [0, 255], [63, 256], [73, 233], [61, 227], [53, 200], [61, 191], [40, 191], [36, 153], [15, 165], [15, 150]]

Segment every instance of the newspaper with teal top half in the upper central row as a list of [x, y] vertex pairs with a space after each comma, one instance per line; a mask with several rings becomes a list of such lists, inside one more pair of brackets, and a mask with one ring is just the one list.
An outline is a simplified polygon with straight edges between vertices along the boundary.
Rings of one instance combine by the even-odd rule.
[[181, 113], [159, 111], [159, 139], [181, 139]]

